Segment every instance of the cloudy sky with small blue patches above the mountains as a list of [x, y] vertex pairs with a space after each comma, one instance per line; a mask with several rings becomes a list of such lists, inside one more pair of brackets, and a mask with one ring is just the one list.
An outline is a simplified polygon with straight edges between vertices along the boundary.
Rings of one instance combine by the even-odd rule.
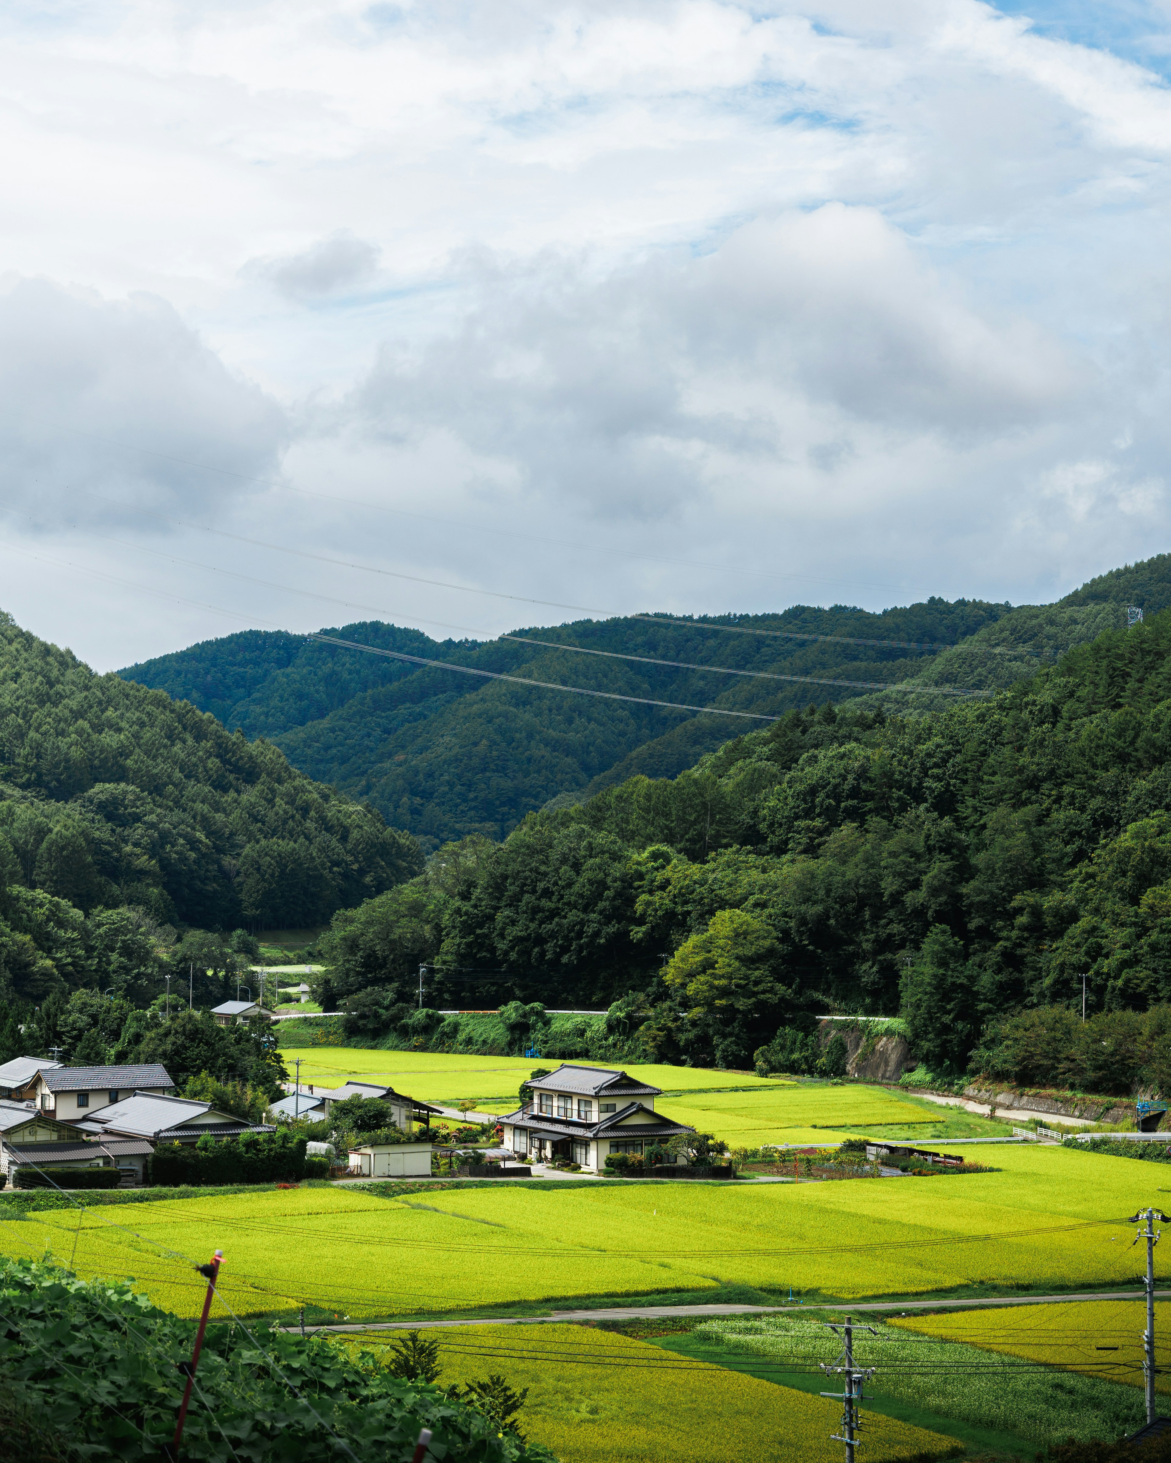
[[1038, 603], [1171, 547], [1171, 0], [13, 0], [0, 609]]

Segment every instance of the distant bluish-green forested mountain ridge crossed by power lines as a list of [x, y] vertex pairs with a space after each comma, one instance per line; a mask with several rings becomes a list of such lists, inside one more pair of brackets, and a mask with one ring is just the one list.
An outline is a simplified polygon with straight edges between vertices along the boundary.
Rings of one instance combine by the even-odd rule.
[[[922, 688], [888, 692], [877, 702], [865, 685], [770, 682], [504, 638], [438, 642], [381, 622], [325, 633], [555, 685], [688, 705], [780, 715], [795, 707], [869, 695], [868, 705], [897, 714], [949, 705], [949, 693], [927, 691], [932, 685], [972, 691], [1007, 686], [1071, 645], [1126, 623], [1126, 603], [1159, 609], [1168, 597], [1171, 560], [1162, 557], [1092, 581], [1057, 606], [1013, 610], [931, 598], [881, 614], [796, 606], [767, 616], [682, 623], [665, 617], [584, 620], [515, 632], [533, 641], [653, 660]], [[830, 635], [840, 642], [786, 639], [777, 631]], [[957, 648], [852, 645], [846, 642], [850, 636]], [[587, 797], [632, 774], [673, 777], [744, 726], [733, 717], [486, 683], [281, 632], [246, 631], [205, 641], [120, 674], [190, 701], [249, 739], [271, 739], [294, 767], [353, 797], [369, 799], [427, 849], [473, 832], [502, 838], [525, 813], [553, 799]]]

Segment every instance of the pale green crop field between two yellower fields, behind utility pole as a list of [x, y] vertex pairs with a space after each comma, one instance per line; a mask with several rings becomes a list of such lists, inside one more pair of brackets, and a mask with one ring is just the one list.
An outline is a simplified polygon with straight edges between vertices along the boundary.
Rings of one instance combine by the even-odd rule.
[[[820, 1364], [834, 1362], [842, 1349], [824, 1324], [792, 1315], [706, 1321], [697, 1334], [767, 1358], [776, 1364], [780, 1381], [786, 1372], [815, 1372]], [[871, 1315], [855, 1331], [855, 1359], [859, 1366], [875, 1368], [867, 1391], [877, 1400], [910, 1402], [1030, 1443], [1117, 1438], [1146, 1421], [1142, 1394], [1130, 1387], [1099, 1377], [1047, 1372], [998, 1349], [909, 1336]], [[874, 1415], [871, 1410], [868, 1418]]]

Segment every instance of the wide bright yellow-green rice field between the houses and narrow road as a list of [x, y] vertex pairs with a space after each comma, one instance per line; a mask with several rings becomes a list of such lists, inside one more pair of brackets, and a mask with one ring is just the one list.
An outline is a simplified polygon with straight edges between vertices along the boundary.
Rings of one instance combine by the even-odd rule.
[[[1134, 1283], [1143, 1257], [1129, 1248], [1121, 1216], [1156, 1197], [1153, 1165], [1071, 1148], [966, 1153], [1003, 1172], [485, 1185], [398, 1198], [321, 1185], [40, 1213], [4, 1223], [0, 1244], [10, 1254], [48, 1249], [83, 1276], [135, 1276], [179, 1314], [196, 1309], [202, 1285], [189, 1267], [214, 1248], [224, 1251], [233, 1306], [262, 1314], [306, 1304], [354, 1320], [716, 1285], [852, 1299], [978, 1282]], [[1171, 1274], [1171, 1252], [1156, 1249], [1155, 1264]]]

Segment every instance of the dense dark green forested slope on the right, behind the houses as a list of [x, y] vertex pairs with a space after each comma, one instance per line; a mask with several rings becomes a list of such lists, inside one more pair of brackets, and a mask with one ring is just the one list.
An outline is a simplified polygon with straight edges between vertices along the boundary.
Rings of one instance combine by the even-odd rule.
[[992, 699], [793, 710], [448, 844], [319, 948], [369, 1030], [422, 963], [430, 1011], [613, 1007], [632, 1049], [727, 1067], [830, 1009], [902, 1014], [959, 1071], [1006, 1012], [1080, 1008], [1083, 974], [1090, 1012], [1167, 1002], [1171, 613]]

